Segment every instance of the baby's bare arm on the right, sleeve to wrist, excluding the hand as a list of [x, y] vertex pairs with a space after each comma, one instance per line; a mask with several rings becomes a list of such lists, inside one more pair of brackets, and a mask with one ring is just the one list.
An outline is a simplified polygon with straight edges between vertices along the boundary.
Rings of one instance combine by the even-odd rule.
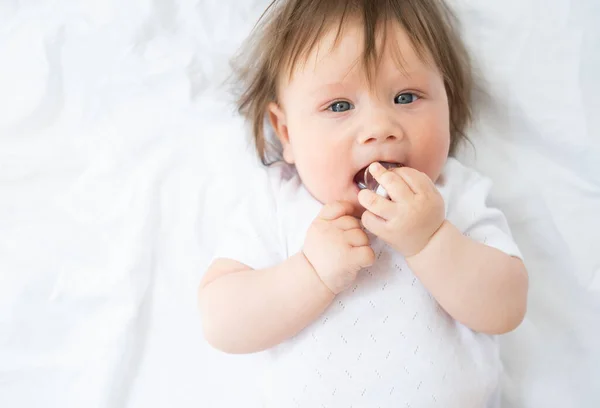
[[444, 310], [472, 330], [502, 334], [523, 320], [528, 287], [523, 262], [465, 237], [448, 221], [406, 260]]

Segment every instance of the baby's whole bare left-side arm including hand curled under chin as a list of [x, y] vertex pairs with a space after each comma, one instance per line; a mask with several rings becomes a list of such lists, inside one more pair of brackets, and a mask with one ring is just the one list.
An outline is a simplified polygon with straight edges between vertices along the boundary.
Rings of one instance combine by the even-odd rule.
[[279, 265], [252, 270], [213, 263], [199, 288], [204, 335], [228, 353], [273, 347], [314, 321], [375, 254], [349, 203], [323, 207], [302, 251]]

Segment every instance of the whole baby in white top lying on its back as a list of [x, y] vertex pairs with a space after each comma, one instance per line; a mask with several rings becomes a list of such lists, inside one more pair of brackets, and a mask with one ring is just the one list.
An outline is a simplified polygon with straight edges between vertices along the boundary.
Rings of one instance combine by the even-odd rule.
[[471, 113], [452, 22], [438, 0], [288, 0], [255, 29], [240, 111], [269, 183], [199, 305], [215, 348], [268, 350], [264, 406], [494, 403], [528, 278], [490, 183], [451, 157]]

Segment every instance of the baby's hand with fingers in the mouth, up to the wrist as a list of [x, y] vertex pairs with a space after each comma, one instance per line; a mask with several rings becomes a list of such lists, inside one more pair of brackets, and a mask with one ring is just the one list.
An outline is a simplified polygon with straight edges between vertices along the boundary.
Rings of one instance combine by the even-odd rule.
[[373, 163], [369, 171], [390, 199], [360, 191], [358, 201], [366, 209], [363, 225], [406, 258], [418, 254], [446, 218], [444, 199], [429, 176], [418, 170], [386, 170]]

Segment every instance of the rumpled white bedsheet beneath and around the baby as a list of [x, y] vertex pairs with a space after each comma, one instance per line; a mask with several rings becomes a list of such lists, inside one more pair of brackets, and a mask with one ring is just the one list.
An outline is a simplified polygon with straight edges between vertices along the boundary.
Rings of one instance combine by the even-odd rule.
[[[265, 4], [0, 1], [1, 407], [252, 406], [195, 296], [256, 175], [220, 84]], [[504, 406], [600, 406], [600, 3], [453, 4], [487, 89], [461, 157], [531, 274]]]

